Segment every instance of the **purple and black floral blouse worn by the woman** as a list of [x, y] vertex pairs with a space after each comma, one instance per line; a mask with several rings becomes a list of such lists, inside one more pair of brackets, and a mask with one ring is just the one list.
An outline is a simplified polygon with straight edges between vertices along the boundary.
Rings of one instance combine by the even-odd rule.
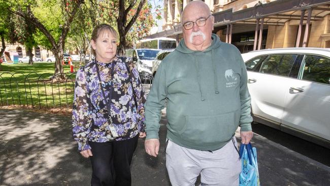
[[[79, 151], [90, 149], [88, 141], [107, 142], [114, 140], [109, 126], [107, 103], [112, 91], [111, 118], [119, 135], [115, 140], [135, 137], [144, 131], [144, 103], [146, 101], [139, 73], [131, 58], [118, 57], [106, 64], [96, 60], [81, 67], [76, 76], [72, 126]], [[102, 83], [98, 80], [96, 66], [100, 70]], [[113, 86], [111, 69], [114, 66]], [[129, 70], [127, 69], [129, 68]], [[105, 91], [105, 101], [101, 84]], [[134, 99], [135, 96], [135, 99]]]

